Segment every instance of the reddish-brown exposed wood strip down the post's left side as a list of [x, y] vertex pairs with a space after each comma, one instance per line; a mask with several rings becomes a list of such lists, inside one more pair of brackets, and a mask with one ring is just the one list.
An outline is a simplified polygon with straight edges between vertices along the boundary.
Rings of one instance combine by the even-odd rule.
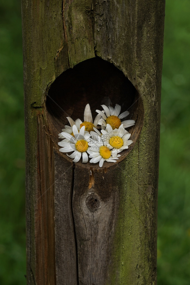
[[54, 155], [44, 119], [38, 115], [38, 192], [35, 201], [36, 280], [56, 284], [54, 233]]

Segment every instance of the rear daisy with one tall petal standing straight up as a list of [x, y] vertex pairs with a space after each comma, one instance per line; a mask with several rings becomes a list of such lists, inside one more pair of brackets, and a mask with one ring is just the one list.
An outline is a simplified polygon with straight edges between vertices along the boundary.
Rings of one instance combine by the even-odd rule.
[[85, 126], [85, 131], [88, 131], [90, 133], [90, 131], [93, 131], [93, 127], [97, 127], [98, 125], [98, 121], [101, 119], [101, 114], [98, 114], [95, 117], [94, 123], [92, 120], [92, 114], [91, 114], [91, 109], [90, 109], [90, 105], [87, 104], [84, 110], [84, 122], [82, 122], [80, 119], [80, 127]]

